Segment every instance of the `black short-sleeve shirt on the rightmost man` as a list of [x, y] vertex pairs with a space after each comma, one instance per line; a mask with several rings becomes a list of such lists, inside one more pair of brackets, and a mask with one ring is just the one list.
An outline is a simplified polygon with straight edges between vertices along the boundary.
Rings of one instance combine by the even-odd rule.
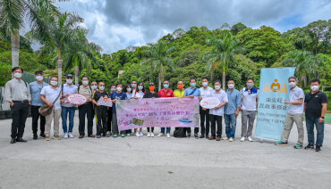
[[327, 103], [327, 94], [318, 91], [316, 94], [306, 94], [304, 103], [306, 106], [306, 116], [310, 118], [320, 118], [322, 114], [322, 103]]

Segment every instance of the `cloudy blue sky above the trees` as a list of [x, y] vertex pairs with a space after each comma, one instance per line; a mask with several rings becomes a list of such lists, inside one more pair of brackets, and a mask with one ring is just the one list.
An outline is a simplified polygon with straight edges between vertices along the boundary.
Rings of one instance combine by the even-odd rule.
[[115, 53], [140, 46], [175, 29], [192, 26], [218, 29], [242, 22], [259, 29], [266, 25], [285, 32], [311, 21], [331, 19], [331, 0], [71, 0], [57, 3], [62, 12], [75, 12], [89, 29], [89, 41]]

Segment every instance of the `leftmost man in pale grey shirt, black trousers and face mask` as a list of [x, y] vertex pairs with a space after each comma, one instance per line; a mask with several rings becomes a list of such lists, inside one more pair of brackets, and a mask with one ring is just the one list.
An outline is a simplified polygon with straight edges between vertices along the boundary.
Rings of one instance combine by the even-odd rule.
[[12, 111], [11, 144], [14, 144], [15, 142], [27, 142], [22, 137], [25, 121], [29, 115], [31, 94], [29, 84], [21, 80], [23, 69], [14, 67], [12, 73], [14, 78], [8, 81], [4, 86], [4, 101], [10, 104]]

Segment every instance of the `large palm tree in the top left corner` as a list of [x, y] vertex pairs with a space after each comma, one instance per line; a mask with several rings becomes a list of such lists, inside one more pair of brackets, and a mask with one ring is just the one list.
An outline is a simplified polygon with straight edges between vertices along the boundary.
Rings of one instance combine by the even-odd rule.
[[45, 15], [58, 13], [55, 0], [0, 0], [0, 29], [1, 36], [12, 45], [12, 67], [19, 66], [20, 29], [25, 21], [30, 28], [45, 34], [47, 25]]

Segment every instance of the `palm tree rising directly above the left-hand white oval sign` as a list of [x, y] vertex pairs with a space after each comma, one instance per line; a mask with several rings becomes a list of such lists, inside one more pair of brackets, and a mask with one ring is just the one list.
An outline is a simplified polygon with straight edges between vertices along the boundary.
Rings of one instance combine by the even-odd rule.
[[87, 30], [79, 29], [64, 48], [64, 70], [75, 70], [75, 85], [78, 86], [78, 78], [81, 68], [87, 68], [89, 62], [98, 62], [94, 52], [100, 52], [99, 45], [89, 43], [86, 38]]

